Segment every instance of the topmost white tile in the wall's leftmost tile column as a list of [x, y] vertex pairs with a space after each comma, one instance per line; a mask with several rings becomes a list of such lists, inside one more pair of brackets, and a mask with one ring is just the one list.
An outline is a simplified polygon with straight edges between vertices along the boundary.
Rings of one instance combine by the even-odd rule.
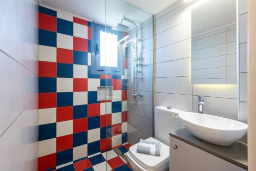
[[39, 60], [56, 62], [57, 48], [39, 45]]

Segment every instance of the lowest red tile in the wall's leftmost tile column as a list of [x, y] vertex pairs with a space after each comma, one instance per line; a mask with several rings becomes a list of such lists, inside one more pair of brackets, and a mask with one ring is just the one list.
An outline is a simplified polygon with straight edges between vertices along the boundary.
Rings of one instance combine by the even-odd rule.
[[38, 171], [46, 170], [56, 166], [56, 153], [38, 158]]

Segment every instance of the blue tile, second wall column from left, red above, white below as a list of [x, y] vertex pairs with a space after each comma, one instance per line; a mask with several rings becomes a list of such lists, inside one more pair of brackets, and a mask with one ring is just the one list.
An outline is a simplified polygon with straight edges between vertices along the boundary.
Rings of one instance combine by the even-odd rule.
[[73, 65], [68, 63], [57, 63], [57, 77], [73, 78]]

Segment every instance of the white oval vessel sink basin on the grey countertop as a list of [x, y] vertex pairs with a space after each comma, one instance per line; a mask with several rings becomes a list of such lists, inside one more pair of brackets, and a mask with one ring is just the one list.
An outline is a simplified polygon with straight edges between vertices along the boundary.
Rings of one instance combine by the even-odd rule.
[[247, 133], [247, 124], [213, 115], [184, 112], [181, 123], [195, 137], [222, 146], [229, 146]]

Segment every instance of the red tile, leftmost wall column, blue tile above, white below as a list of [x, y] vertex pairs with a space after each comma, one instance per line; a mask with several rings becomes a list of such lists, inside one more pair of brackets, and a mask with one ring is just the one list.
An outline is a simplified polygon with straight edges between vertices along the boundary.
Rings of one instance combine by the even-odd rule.
[[57, 103], [56, 93], [39, 93], [39, 109], [55, 108]]

